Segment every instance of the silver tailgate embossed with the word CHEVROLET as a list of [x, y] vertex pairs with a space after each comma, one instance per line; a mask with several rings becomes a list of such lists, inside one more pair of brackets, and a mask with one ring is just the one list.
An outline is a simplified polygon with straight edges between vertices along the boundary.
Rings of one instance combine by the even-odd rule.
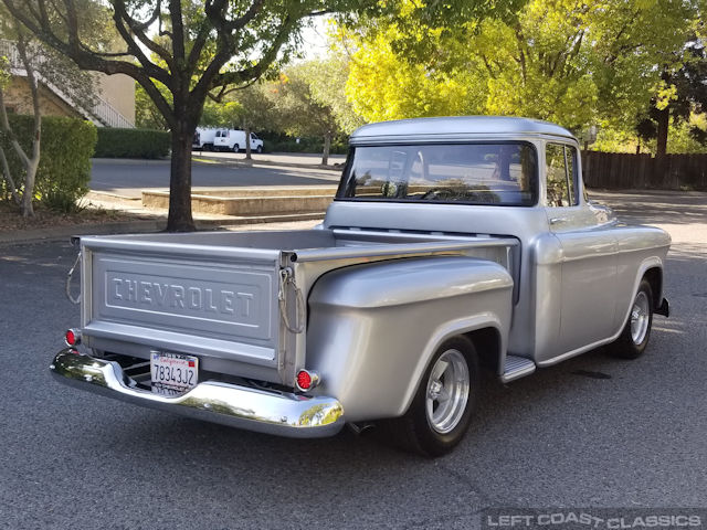
[[82, 252], [89, 346], [129, 342], [277, 369], [279, 251], [85, 237]]

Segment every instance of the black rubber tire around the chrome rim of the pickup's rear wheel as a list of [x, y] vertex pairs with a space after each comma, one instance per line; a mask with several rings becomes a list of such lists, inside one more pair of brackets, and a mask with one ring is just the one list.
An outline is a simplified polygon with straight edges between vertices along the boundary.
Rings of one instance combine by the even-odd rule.
[[[445, 422], [444, 428], [440, 428], [440, 425], [435, 426], [434, 418], [430, 417], [428, 412], [428, 398], [431, 395], [431, 384], [435, 381], [440, 383], [443, 379], [442, 375], [445, 379], [443, 388], [447, 384], [446, 378], [454, 379], [454, 365], [452, 367], [452, 373], [447, 372], [447, 368], [439, 380], [431, 379], [437, 361], [449, 352], [461, 353], [461, 356], [453, 353], [454, 361], [452, 364], [463, 360], [467, 370], [468, 384], [465, 403], [463, 405], [452, 405], [451, 409], [457, 412], [452, 414], [449, 422]], [[449, 358], [449, 356], [445, 357], [445, 359]], [[405, 415], [389, 421], [388, 425], [386, 425], [388, 436], [392, 436], [393, 442], [401, 448], [424, 456], [442, 456], [451, 452], [462, 441], [471, 424], [472, 414], [478, 400], [478, 358], [472, 341], [461, 336], [444, 341], [432, 357], [432, 361], [425, 370]], [[441, 406], [447, 405], [439, 403], [437, 409], [434, 411], [439, 411]], [[444, 411], [441, 412], [444, 413]], [[442, 414], [442, 417], [445, 417], [445, 415]]]

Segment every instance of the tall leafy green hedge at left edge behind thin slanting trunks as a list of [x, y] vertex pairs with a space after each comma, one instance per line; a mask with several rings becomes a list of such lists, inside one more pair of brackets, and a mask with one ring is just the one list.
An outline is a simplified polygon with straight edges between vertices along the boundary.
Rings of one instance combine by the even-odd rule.
[[[25, 152], [31, 153], [34, 118], [12, 114], [10, 127]], [[24, 168], [9, 139], [0, 132], [15, 184], [24, 181]], [[42, 117], [40, 165], [36, 170], [35, 199], [50, 208], [71, 211], [76, 201], [88, 192], [91, 157], [96, 146], [96, 127], [83, 119], [59, 116]], [[0, 193], [7, 197], [7, 183], [0, 181]]]

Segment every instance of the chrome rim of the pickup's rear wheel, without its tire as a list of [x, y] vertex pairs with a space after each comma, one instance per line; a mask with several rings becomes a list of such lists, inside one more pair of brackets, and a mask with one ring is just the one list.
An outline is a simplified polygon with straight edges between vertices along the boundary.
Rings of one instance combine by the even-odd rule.
[[428, 380], [428, 423], [440, 434], [456, 427], [466, 410], [469, 393], [468, 365], [464, 354], [446, 350], [432, 367]]

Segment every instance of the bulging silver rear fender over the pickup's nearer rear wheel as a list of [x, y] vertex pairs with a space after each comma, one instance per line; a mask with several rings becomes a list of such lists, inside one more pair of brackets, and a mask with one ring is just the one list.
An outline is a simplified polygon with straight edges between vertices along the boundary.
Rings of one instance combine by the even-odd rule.
[[450, 337], [495, 328], [505, 349], [513, 279], [497, 263], [435, 256], [356, 265], [323, 276], [309, 296], [306, 365], [347, 421], [404, 414]]

